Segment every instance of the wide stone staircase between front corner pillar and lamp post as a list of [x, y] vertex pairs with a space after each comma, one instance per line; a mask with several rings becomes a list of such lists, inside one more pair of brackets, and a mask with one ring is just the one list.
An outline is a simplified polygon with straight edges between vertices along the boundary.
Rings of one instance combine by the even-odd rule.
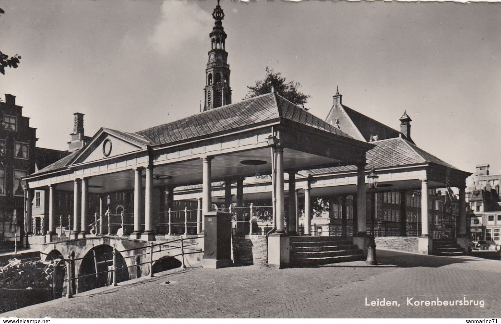
[[363, 252], [339, 236], [291, 236], [291, 264], [314, 265], [363, 259]]

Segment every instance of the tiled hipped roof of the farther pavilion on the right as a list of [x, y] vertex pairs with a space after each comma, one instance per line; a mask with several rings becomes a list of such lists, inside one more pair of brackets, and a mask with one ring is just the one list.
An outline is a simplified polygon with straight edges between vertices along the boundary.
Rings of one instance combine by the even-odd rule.
[[[400, 137], [375, 141], [371, 142], [371, 144], [375, 144], [376, 146], [372, 150], [367, 151], [366, 169], [404, 166], [419, 163], [435, 163], [455, 169], [452, 165], [440, 160], [426, 151], [423, 151], [416, 145]], [[356, 169], [355, 165], [345, 165], [314, 169], [310, 170], [310, 172], [313, 174], [323, 174], [331, 172], [355, 171]]]

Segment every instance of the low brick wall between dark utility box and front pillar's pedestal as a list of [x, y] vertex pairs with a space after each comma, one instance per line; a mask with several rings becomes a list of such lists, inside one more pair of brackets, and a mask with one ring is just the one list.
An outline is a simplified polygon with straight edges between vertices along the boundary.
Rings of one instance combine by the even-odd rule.
[[266, 235], [231, 235], [231, 259], [236, 264], [267, 264]]

